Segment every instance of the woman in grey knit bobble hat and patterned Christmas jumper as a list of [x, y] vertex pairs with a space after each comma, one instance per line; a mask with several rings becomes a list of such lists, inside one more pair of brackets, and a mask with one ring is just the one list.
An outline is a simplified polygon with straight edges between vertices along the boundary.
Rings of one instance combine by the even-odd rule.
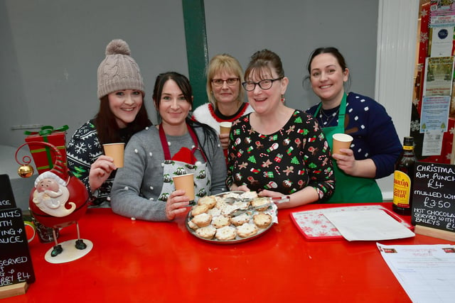
[[100, 110], [74, 133], [67, 158], [70, 172], [87, 187], [92, 205], [110, 206], [117, 167], [104, 155], [102, 144], [126, 144], [151, 122], [144, 106], [144, 80], [129, 45], [121, 39], [112, 40], [105, 54], [97, 70]]

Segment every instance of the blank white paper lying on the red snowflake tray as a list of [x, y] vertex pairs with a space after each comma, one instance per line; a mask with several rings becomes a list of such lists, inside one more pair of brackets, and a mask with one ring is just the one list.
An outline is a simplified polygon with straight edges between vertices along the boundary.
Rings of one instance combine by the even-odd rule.
[[323, 212], [348, 241], [380, 241], [409, 238], [415, 234], [380, 209]]

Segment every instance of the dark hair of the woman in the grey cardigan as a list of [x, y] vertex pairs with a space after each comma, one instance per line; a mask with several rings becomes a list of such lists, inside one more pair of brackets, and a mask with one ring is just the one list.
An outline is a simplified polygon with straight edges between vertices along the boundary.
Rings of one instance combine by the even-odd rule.
[[[187, 77], [184, 75], [179, 74], [178, 72], [164, 72], [162, 74], [159, 74], [156, 77], [155, 81], [155, 86], [154, 86], [154, 94], [153, 94], [153, 99], [156, 107], [156, 111], [159, 114], [159, 104], [161, 103], [161, 94], [163, 93], [163, 87], [164, 84], [168, 80], [173, 80], [176, 82], [178, 88], [182, 91], [183, 97], [185, 97], [186, 101], [193, 106], [193, 89], [191, 88], [190, 81], [188, 80]], [[159, 117], [161, 119], [161, 117]], [[207, 153], [203, 149], [203, 146], [205, 144], [205, 140], [208, 139], [210, 141], [210, 144], [212, 145], [212, 148], [216, 148], [216, 138], [218, 138], [217, 133], [213, 128], [208, 126], [207, 124], [200, 123], [198, 121], [192, 120], [189, 116], [186, 117], [186, 123], [191, 126], [191, 128], [196, 129], [196, 128], [203, 128], [204, 132], [204, 142], [203, 144], [200, 143], [200, 138], [198, 137], [198, 133], [196, 133], [196, 138], [198, 139], [198, 145], [200, 146], [201, 150], [203, 150], [203, 153], [205, 155], [205, 158], [207, 158]], [[210, 164], [210, 162], [209, 162]]]

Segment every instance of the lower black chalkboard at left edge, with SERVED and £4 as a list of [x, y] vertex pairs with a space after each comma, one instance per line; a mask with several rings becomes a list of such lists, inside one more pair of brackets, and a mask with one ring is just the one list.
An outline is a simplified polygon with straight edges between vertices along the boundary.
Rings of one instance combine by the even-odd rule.
[[[35, 282], [21, 209], [0, 210], [0, 287]], [[1, 288], [0, 288], [1, 290]]]

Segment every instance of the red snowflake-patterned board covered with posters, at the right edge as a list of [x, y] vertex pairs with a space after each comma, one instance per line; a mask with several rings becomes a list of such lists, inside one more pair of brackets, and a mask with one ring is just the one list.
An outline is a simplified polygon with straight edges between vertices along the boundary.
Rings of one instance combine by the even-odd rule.
[[[454, 59], [455, 55], [455, 30], [451, 35], [452, 40], [452, 53], [449, 55], [447, 50], [449, 43], [446, 43], [444, 38], [446, 28], [447, 37], [452, 33], [452, 28], [455, 27], [455, 0], [438, 0], [438, 1], [424, 1], [420, 6], [420, 31], [418, 42], [418, 61], [417, 61], [417, 76], [415, 82], [415, 99], [412, 105], [412, 121], [411, 121], [411, 134], [414, 136], [416, 142], [416, 155], [419, 160], [424, 162], [437, 162], [437, 163], [454, 163], [455, 161], [455, 141], [454, 141], [454, 121], [455, 121], [455, 83], [453, 82], [454, 72]], [[437, 36], [440, 34], [439, 37]], [[447, 41], [448, 42], [448, 41]], [[438, 48], [440, 53], [432, 53], [432, 43], [446, 43], [442, 45], [435, 45], [433, 52], [437, 52]], [[444, 50], [441, 50], [444, 49]], [[436, 55], [445, 54], [444, 57], [435, 57]], [[419, 66], [422, 72], [419, 74]], [[451, 102], [449, 106], [449, 119], [446, 122], [447, 131], [443, 132], [439, 128], [442, 125], [441, 121], [445, 120], [444, 113], [429, 114], [434, 106], [429, 104], [427, 99], [426, 116], [427, 121], [434, 119], [431, 123], [420, 123], [421, 111], [424, 97], [450, 97]], [[446, 102], [445, 99], [443, 100]], [[431, 102], [430, 102], [431, 103]], [[444, 118], [441, 118], [444, 116]], [[428, 126], [436, 130], [424, 130], [423, 126]], [[422, 129], [421, 129], [422, 126]], [[452, 148], [454, 147], [454, 148]]]

